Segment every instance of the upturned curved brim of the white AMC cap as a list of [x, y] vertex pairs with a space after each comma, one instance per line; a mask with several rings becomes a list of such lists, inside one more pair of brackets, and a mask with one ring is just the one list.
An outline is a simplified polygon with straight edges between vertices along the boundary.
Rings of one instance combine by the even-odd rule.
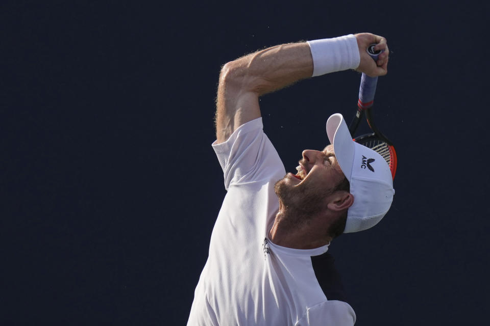
[[333, 151], [338, 165], [350, 182], [356, 149], [346, 121], [340, 113], [333, 114], [328, 118], [327, 135], [330, 144], [333, 144]]

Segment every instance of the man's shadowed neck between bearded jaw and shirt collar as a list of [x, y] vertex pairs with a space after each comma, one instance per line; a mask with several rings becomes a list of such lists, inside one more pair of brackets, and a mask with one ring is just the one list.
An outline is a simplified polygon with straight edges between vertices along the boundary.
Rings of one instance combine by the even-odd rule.
[[332, 240], [326, 232], [329, 220], [328, 213], [305, 216], [301, 210], [285, 207], [280, 202], [279, 211], [268, 236], [272, 242], [282, 247], [322, 247]]

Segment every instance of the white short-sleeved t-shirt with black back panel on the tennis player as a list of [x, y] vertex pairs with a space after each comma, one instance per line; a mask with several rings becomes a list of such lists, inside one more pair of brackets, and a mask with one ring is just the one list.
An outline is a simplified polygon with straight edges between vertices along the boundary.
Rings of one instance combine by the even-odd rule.
[[262, 118], [215, 143], [228, 192], [187, 325], [353, 325], [328, 246], [291, 249], [267, 238], [279, 209], [274, 184], [286, 171]]

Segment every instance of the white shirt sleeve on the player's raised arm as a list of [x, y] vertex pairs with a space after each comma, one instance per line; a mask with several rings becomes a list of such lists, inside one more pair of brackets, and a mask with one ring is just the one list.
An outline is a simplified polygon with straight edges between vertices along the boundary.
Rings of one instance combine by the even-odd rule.
[[262, 118], [242, 124], [223, 143], [212, 144], [225, 176], [225, 188], [260, 180], [279, 180], [286, 172], [271, 141], [263, 132]]

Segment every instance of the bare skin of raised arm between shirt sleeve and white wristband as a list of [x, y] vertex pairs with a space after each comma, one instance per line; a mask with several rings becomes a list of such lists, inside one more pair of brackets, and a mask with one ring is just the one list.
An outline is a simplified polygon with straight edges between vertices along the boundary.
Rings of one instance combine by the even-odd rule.
[[311, 77], [307, 43], [283, 44], [223, 66], [216, 99], [216, 140], [226, 141], [240, 125], [260, 117], [259, 96]]

